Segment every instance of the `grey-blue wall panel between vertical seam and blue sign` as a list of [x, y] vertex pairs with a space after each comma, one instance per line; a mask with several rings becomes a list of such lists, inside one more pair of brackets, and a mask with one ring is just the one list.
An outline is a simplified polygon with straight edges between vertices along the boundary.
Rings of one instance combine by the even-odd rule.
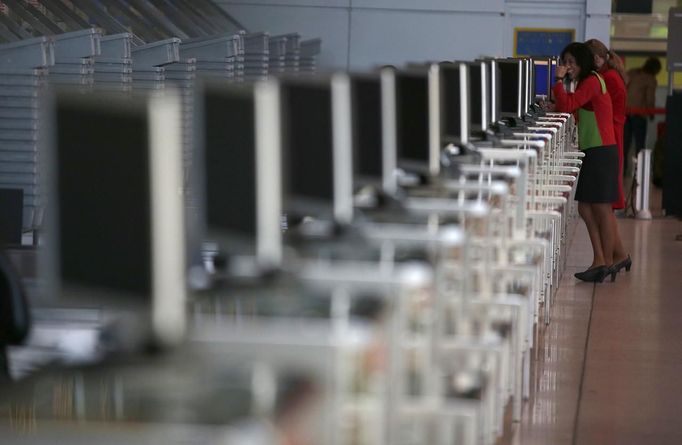
[[499, 14], [353, 9], [350, 67], [501, 56], [503, 25]]

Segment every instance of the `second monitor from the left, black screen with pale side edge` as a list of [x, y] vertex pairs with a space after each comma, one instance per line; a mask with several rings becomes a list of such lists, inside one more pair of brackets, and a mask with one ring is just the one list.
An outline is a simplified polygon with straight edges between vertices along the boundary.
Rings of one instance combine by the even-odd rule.
[[228, 257], [278, 267], [282, 205], [276, 87], [204, 82], [196, 107], [200, 228]]

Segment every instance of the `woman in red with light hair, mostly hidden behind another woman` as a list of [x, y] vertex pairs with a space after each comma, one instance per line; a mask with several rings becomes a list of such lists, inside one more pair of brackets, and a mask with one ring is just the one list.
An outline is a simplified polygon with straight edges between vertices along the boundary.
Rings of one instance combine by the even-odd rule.
[[[594, 65], [597, 72], [604, 79], [606, 84], [606, 91], [611, 96], [611, 106], [613, 111], [613, 131], [616, 136], [616, 145], [618, 146], [618, 200], [616, 200], [612, 207], [616, 209], [625, 208], [625, 195], [623, 193], [623, 131], [625, 126], [625, 102], [627, 93], [625, 91], [625, 67], [623, 61], [618, 55], [609, 50], [606, 45], [597, 39], [591, 39], [585, 42], [594, 55]], [[620, 233], [616, 232], [614, 252], [616, 256], [620, 257], [625, 252], [623, 241], [620, 238]], [[632, 259], [630, 255], [617, 263], [618, 271], [625, 268], [630, 270], [632, 267]]]

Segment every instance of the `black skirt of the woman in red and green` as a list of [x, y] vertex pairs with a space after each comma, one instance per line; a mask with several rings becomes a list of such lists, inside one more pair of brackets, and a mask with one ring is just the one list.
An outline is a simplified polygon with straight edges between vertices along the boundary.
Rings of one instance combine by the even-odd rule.
[[575, 200], [607, 203], [618, 199], [618, 148], [615, 145], [588, 148], [580, 167]]

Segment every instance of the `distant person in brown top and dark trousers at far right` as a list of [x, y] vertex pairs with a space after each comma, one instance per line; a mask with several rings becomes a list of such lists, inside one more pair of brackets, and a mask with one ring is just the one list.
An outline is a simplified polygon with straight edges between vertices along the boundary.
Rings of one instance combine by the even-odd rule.
[[[656, 76], [661, 72], [661, 62], [649, 57], [640, 68], [627, 73], [627, 107], [654, 108], [656, 106]], [[630, 171], [630, 143], [635, 138], [635, 154], [646, 146], [646, 116], [630, 114], [625, 119], [623, 149], [625, 154], [624, 171]]]

